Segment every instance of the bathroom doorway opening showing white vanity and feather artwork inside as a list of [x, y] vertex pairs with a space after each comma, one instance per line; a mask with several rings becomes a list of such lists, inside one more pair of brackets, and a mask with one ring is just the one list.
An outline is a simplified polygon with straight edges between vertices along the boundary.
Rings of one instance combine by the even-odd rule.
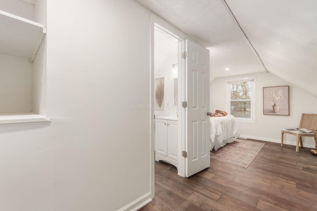
[[181, 43], [166, 29], [154, 25], [155, 161], [177, 169], [181, 169], [178, 165]]

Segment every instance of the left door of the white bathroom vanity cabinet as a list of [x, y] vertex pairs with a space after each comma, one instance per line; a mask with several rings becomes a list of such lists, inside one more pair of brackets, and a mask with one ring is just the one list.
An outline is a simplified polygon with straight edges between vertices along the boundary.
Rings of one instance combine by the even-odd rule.
[[155, 153], [167, 157], [167, 120], [156, 119]]

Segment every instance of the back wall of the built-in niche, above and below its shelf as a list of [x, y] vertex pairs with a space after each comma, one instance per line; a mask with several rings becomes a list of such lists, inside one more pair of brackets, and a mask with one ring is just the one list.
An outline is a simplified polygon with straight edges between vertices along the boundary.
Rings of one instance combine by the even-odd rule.
[[[0, 10], [33, 20], [34, 6], [21, 0], [0, 0]], [[32, 70], [28, 59], [0, 54], [0, 113], [32, 111]]]

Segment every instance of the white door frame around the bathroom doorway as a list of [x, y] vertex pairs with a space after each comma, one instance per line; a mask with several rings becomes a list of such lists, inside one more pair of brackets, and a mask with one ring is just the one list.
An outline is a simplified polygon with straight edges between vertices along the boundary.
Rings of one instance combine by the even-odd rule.
[[159, 27], [169, 35], [175, 37], [180, 41], [180, 45], [178, 46], [178, 141], [177, 141], [177, 150], [178, 150], [178, 175], [185, 176], [185, 158], [182, 157], [182, 151], [185, 149], [185, 109], [182, 108], [182, 101], [185, 101], [185, 59], [182, 59], [181, 52], [185, 51], [185, 40], [189, 37], [185, 35], [183, 32], [176, 29], [174, 26], [160, 18], [159, 16], [151, 13], [151, 155], [150, 155], [150, 189], [151, 189], [151, 197], [154, 198], [154, 185], [155, 185], [155, 119], [154, 119], [154, 111], [155, 111], [155, 75], [154, 75], [154, 29], [155, 27]]

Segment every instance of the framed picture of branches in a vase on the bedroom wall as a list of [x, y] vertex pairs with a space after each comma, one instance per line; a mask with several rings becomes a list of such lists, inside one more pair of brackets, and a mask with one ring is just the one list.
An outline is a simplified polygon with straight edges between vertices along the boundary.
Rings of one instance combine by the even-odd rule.
[[263, 87], [263, 114], [289, 116], [289, 86]]

